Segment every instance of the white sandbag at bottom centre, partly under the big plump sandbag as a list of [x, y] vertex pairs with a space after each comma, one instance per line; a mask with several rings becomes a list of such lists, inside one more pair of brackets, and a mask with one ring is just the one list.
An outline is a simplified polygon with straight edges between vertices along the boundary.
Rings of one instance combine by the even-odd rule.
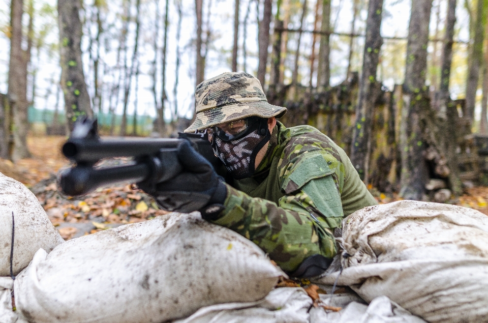
[[281, 287], [264, 300], [207, 306], [173, 323], [309, 323], [312, 299], [300, 287]]

